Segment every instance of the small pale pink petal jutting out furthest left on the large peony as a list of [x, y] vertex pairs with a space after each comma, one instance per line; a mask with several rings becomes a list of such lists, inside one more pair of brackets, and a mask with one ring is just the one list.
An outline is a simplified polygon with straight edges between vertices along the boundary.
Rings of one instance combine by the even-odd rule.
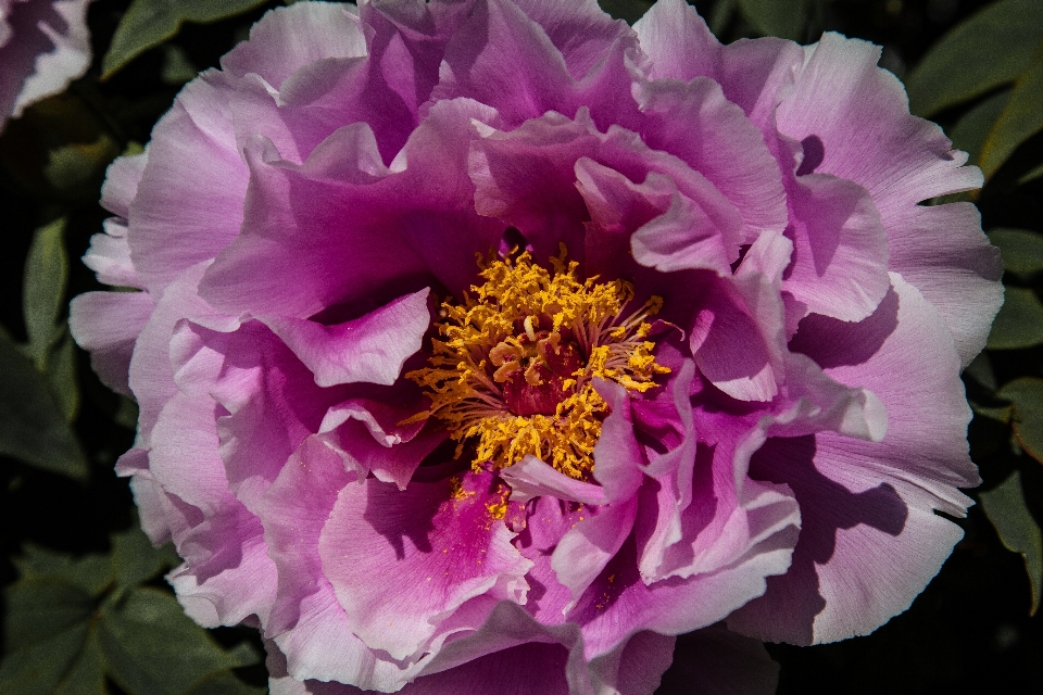
[[155, 308], [146, 292], [88, 292], [73, 299], [68, 329], [110, 389], [130, 395], [134, 343]]

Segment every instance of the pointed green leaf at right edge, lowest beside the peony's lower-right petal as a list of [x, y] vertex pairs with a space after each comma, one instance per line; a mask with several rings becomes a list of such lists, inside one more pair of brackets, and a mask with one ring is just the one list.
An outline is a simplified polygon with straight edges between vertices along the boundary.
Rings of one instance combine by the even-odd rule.
[[1020, 553], [1025, 558], [1025, 569], [1032, 586], [1029, 615], [1034, 616], [1043, 593], [1043, 534], [1025, 503], [1021, 472], [1014, 471], [998, 488], [982, 492], [980, 496], [981, 507], [992, 526], [996, 527], [1000, 541], [1008, 551]]

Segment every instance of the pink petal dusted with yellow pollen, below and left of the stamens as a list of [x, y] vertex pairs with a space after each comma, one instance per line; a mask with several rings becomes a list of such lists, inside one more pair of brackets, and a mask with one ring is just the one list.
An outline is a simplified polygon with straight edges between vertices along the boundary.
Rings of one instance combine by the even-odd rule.
[[506, 491], [489, 473], [465, 472], [456, 484], [360, 481], [341, 491], [323, 529], [323, 570], [352, 630], [394, 659], [417, 655], [468, 598], [525, 601], [531, 563], [491, 509]]

